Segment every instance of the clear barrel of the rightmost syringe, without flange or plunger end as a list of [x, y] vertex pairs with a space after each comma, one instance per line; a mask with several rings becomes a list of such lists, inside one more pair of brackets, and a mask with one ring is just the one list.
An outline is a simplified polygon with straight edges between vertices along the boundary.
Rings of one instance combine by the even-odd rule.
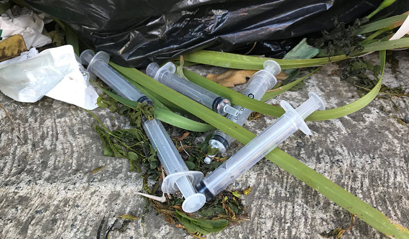
[[282, 141], [298, 130], [293, 112], [283, 114], [274, 124], [255, 137], [234, 156], [221, 164], [203, 179], [196, 188], [210, 200], [233, 183], [244, 172], [276, 148]]

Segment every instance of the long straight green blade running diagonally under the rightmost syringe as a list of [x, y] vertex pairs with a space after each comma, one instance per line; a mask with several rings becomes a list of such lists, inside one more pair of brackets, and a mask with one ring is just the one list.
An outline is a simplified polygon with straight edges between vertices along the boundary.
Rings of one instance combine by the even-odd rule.
[[[384, 65], [385, 52], [382, 52], [380, 56], [381, 63]], [[145, 88], [155, 90], [173, 104], [178, 105], [179, 107], [184, 107], [193, 115], [231, 135], [242, 144], [247, 144], [247, 142], [256, 136], [252, 132], [229, 121], [212, 110], [151, 79], [137, 69], [125, 68], [114, 63], [110, 64], [117, 70], [121, 71], [124, 75], [128, 76], [131, 80], [138, 82]], [[291, 157], [280, 149], [275, 149], [269, 153], [266, 158], [271, 162], [276, 163], [278, 166], [280, 166], [280, 168], [284, 169], [294, 177], [302, 180], [328, 199], [337, 203], [339, 206], [342, 206], [352, 214], [356, 214], [361, 220], [367, 222], [385, 235], [401, 239], [409, 237], [409, 231], [406, 228], [392, 222], [380, 211], [361, 201], [354, 195], [347, 192], [344, 188], [333, 183], [323, 175], [315, 172], [307, 165]]]

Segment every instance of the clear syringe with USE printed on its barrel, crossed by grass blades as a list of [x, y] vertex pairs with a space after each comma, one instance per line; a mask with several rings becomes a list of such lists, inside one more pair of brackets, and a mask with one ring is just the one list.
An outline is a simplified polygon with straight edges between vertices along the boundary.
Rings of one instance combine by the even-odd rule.
[[[277, 83], [275, 75], [278, 75], [281, 71], [280, 65], [273, 60], [264, 61], [264, 69], [257, 71], [248, 81], [248, 86], [244, 91], [244, 95], [255, 100], [261, 100], [264, 93], [271, 89]], [[240, 114], [233, 116], [229, 114], [226, 116], [229, 120], [234, 123], [243, 126], [244, 122], [247, 120], [248, 116], [252, 113], [252, 110], [246, 109], [239, 105], [234, 106]], [[233, 137], [225, 134], [221, 130], [216, 130], [209, 140], [209, 146], [211, 148], [219, 149], [219, 153], [224, 153], [229, 148], [230, 144], [233, 142]], [[216, 155], [208, 155], [205, 158], [205, 163], [209, 164], [212, 162], [212, 158]]]

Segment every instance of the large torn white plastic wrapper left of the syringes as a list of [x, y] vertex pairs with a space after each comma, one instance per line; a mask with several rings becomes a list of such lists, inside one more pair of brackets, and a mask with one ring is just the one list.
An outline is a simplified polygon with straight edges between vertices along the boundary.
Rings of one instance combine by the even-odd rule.
[[44, 95], [92, 110], [98, 94], [72, 45], [36, 54], [30, 50], [0, 64], [0, 90], [13, 100], [36, 102]]

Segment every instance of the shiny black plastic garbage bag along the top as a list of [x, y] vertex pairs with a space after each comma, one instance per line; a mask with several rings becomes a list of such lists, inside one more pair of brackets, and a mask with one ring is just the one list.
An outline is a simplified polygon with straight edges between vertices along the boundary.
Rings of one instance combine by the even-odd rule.
[[[351, 22], [369, 14], [382, 2], [24, 1], [40, 12], [70, 23], [82, 39], [95, 46], [96, 50], [107, 52], [113, 62], [132, 67], [146, 67], [152, 61], [162, 63], [206, 47], [225, 52], [241, 50], [245, 53], [244, 46], [249, 50], [254, 42], [260, 43], [256, 47], [257, 54], [275, 55], [288, 51], [287, 46], [292, 45], [290, 42], [282, 42], [283, 39], [331, 29], [335, 18]], [[388, 11], [403, 11], [408, 8], [407, 2], [397, 1]]]

